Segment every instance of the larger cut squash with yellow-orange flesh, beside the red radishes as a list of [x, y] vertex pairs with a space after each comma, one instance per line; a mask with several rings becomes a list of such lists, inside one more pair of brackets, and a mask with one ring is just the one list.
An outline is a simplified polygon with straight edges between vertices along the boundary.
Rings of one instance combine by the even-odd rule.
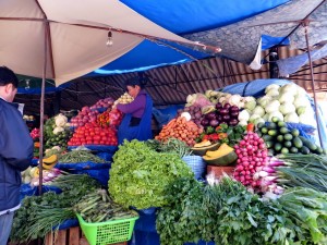
[[223, 143], [217, 150], [208, 150], [203, 159], [209, 166], [229, 166], [238, 159], [238, 155], [232, 147]]

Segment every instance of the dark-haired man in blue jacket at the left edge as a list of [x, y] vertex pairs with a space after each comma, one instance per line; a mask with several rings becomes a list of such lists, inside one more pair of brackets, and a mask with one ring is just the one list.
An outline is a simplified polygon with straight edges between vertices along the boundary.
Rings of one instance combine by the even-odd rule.
[[21, 171], [33, 158], [33, 139], [17, 107], [12, 103], [19, 81], [0, 66], [0, 245], [5, 245], [14, 211], [20, 208]]

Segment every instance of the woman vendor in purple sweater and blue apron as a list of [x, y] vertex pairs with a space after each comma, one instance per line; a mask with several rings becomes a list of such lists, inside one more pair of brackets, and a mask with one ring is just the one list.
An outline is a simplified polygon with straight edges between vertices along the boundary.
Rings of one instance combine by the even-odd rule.
[[124, 113], [124, 118], [118, 130], [118, 143], [124, 139], [147, 140], [152, 134], [153, 99], [144, 89], [144, 81], [134, 77], [125, 82], [125, 88], [134, 98], [131, 103], [117, 105], [117, 109]]

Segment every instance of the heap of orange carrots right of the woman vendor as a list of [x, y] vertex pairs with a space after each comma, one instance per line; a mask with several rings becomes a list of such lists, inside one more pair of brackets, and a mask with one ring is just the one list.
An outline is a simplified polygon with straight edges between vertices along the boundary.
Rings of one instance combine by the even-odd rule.
[[195, 144], [195, 138], [203, 132], [194, 122], [186, 121], [184, 117], [172, 119], [165, 125], [155, 138], [160, 142], [166, 142], [168, 138], [178, 138], [189, 146]]

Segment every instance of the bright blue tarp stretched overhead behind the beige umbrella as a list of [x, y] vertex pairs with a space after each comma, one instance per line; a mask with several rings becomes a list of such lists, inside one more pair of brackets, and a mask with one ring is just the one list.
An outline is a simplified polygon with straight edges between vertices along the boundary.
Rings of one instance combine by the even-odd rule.
[[[162, 26], [187, 38], [201, 32], [219, 28], [281, 5], [289, 0], [122, 0], [124, 4]], [[264, 37], [265, 48], [279, 44], [283, 37]], [[193, 39], [193, 38], [191, 38]], [[196, 38], [194, 39], [196, 41]], [[202, 41], [206, 44], [207, 41]], [[211, 44], [213, 45], [213, 44]], [[214, 44], [213, 46], [217, 46]], [[213, 53], [194, 51], [170, 44], [171, 48], [144, 40], [129, 53], [94, 71], [88, 76], [140, 72], [167, 64], [180, 64], [210, 57]], [[217, 46], [219, 47], [219, 45]], [[174, 49], [175, 48], [175, 49]], [[253, 57], [252, 57], [253, 58]]]

